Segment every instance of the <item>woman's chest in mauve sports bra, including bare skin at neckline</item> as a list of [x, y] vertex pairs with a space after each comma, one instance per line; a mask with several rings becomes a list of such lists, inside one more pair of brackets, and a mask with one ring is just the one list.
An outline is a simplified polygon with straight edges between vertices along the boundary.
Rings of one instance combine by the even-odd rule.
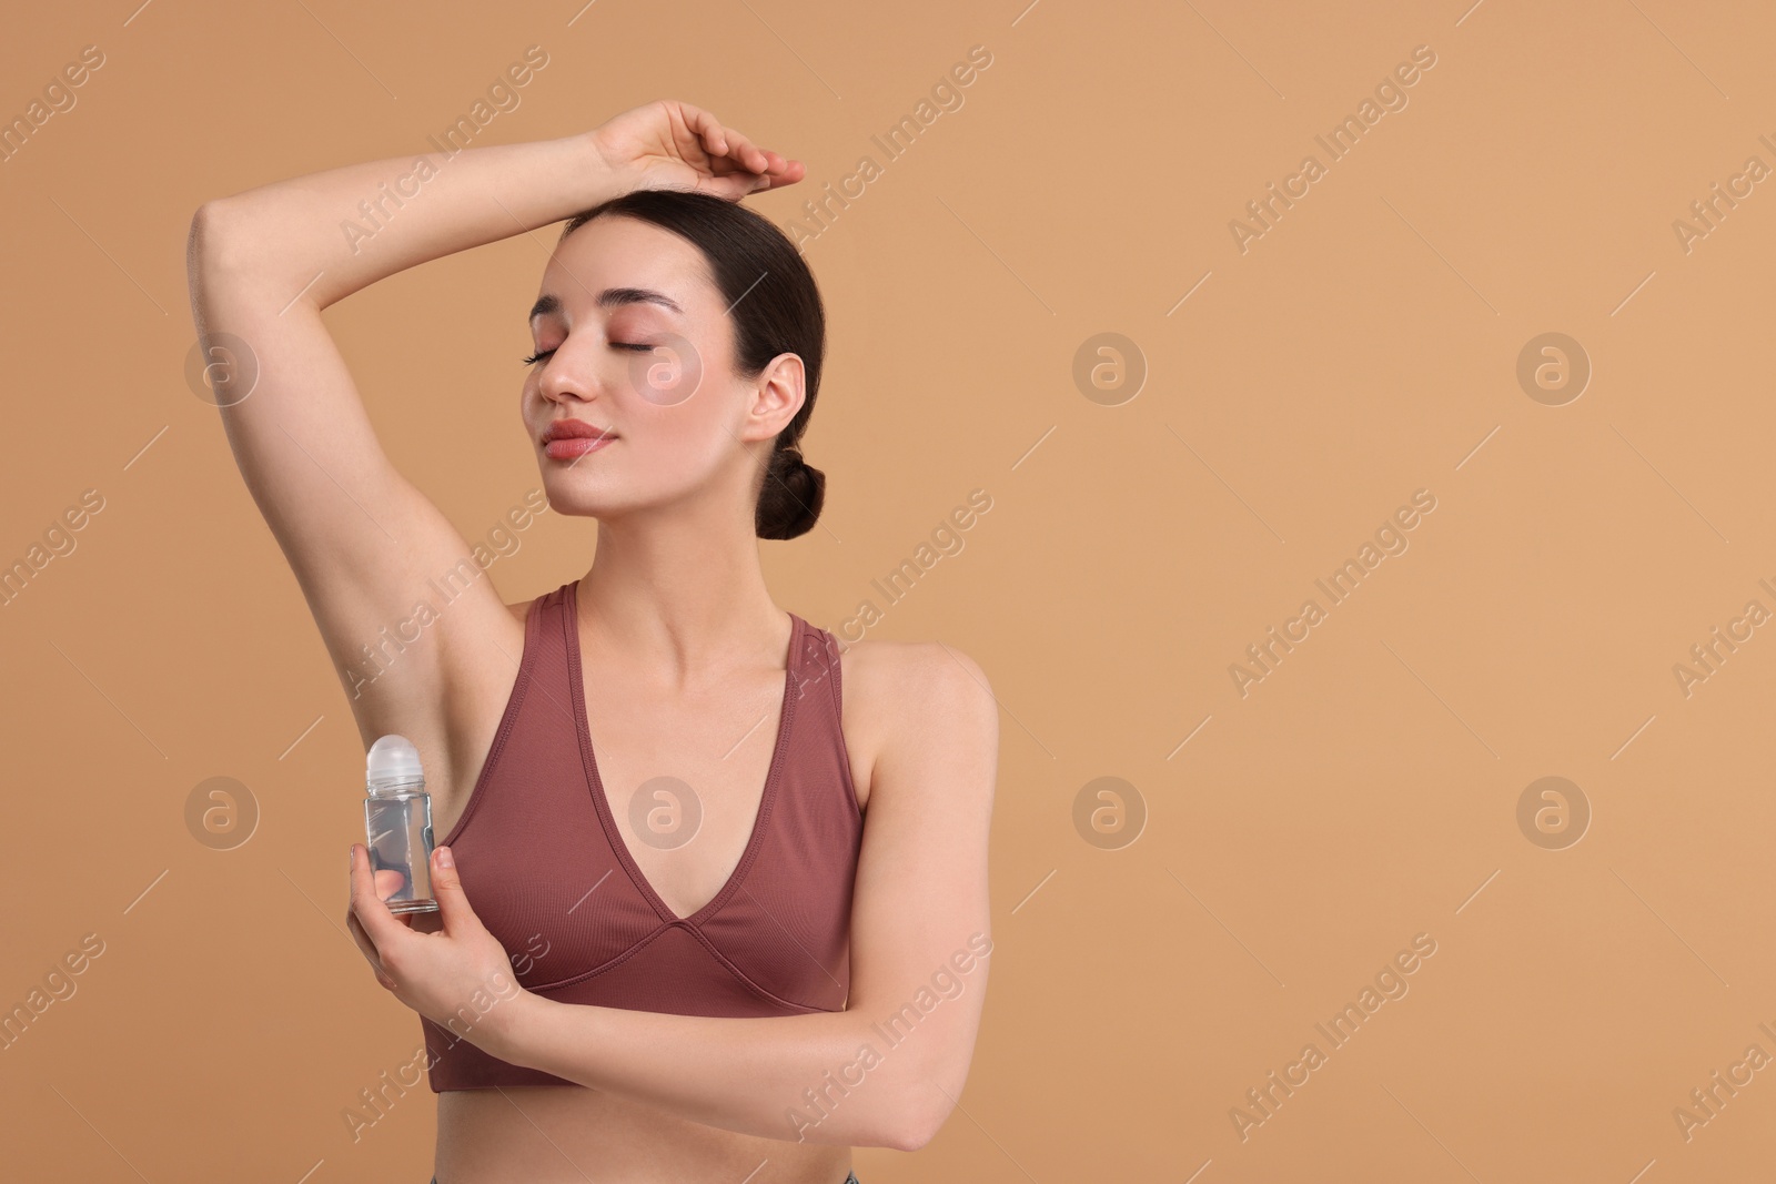
[[559, 596], [536, 611], [474, 790], [435, 822], [520, 985], [703, 1015], [844, 1006], [863, 813], [831, 643], [796, 618], [787, 669], [662, 692], [583, 664]]

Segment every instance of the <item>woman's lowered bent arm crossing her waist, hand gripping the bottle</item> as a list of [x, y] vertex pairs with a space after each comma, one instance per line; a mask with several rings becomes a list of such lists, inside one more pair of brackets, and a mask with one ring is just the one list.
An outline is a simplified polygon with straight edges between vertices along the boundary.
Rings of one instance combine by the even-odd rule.
[[419, 934], [380, 904], [353, 845], [352, 930], [378, 980], [439, 1022], [464, 1014], [471, 994], [485, 999], [467, 1012], [476, 1022], [464, 1038], [487, 1053], [693, 1122], [790, 1141], [924, 1147], [963, 1092], [980, 1026], [998, 705], [980, 667], [941, 643], [872, 657], [872, 728], [883, 738], [844, 1012], [702, 1017], [545, 999], [515, 985], [455, 868], [440, 864], [442, 849], [433, 891], [444, 928]]

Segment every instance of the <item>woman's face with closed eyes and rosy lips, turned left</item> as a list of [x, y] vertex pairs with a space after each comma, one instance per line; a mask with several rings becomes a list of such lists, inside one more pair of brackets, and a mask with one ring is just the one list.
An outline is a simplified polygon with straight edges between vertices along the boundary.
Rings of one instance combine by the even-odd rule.
[[[593, 218], [549, 259], [531, 335], [522, 415], [551, 506], [614, 518], [709, 499], [749, 522], [757, 467], [794, 407], [769, 398], [781, 367], [733, 376], [733, 325], [696, 247]], [[565, 421], [588, 435], [559, 435]]]

